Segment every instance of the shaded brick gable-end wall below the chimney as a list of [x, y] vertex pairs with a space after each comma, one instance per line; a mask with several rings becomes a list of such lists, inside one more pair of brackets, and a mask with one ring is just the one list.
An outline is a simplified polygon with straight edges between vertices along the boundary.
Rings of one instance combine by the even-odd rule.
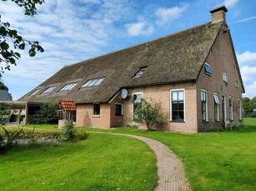
[[[206, 63], [211, 66], [212, 75], [208, 76], [204, 72], [204, 68], [198, 76], [197, 95], [198, 95], [198, 128], [199, 130], [211, 128], [223, 128], [223, 109], [222, 109], [222, 95], [226, 96], [226, 117], [229, 119], [228, 112], [228, 96], [233, 97], [233, 123], [240, 125], [243, 121], [238, 120], [238, 99], [242, 101], [242, 88], [239, 81], [239, 87], [236, 86], [235, 81], [239, 80], [237, 68], [233, 59], [230, 41], [228, 40], [228, 33], [224, 33], [221, 29], [218, 38], [214, 42], [212, 51], [210, 51]], [[228, 75], [228, 84], [223, 82], [223, 72]], [[208, 91], [208, 122], [202, 122], [201, 109], [201, 89]], [[219, 100], [219, 122], [214, 120], [214, 100], [213, 94], [218, 93]], [[242, 110], [242, 109], [241, 109]]]

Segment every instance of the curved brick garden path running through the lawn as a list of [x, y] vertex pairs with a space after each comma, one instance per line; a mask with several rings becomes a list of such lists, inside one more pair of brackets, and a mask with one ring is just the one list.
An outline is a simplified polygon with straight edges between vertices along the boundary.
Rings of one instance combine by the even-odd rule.
[[135, 139], [142, 140], [144, 143], [148, 144], [151, 149], [153, 149], [154, 153], [157, 156], [158, 166], [158, 186], [154, 189], [155, 191], [191, 190], [188, 185], [188, 180], [186, 179], [184, 174], [182, 162], [175, 154], [173, 154], [173, 151], [168, 149], [167, 146], [160, 143], [158, 140], [152, 140], [138, 135], [117, 133], [108, 134], [133, 137]]

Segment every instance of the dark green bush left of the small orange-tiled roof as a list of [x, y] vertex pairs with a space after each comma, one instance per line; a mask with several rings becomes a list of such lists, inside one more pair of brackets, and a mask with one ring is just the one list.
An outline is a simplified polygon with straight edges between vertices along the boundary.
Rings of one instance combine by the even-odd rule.
[[57, 106], [51, 102], [42, 102], [37, 120], [38, 124], [58, 123]]

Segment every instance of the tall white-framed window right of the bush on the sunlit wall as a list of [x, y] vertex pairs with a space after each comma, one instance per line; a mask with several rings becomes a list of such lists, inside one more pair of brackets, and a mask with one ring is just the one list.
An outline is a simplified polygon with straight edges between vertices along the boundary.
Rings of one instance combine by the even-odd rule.
[[172, 100], [172, 120], [184, 121], [184, 91], [171, 91]]

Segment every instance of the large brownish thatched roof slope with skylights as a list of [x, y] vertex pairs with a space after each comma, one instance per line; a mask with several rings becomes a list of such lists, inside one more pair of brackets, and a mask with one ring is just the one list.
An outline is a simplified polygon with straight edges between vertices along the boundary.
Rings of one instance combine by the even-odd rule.
[[[19, 100], [74, 100], [76, 103], [108, 102], [123, 87], [193, 81], [203, 67], [223, 22], [208, 22], [166, 37], [65, 66]], [[143, 76], [133, 78], [147, 66]], [[104, 77], [96, 87], [80, 89], [91, 79]], [[77, 82], [71, 91], [59, 91]], [[49, 86], [56, 88], [41, 94]], [[34, 91], [40, 90], [35, 95]]]

